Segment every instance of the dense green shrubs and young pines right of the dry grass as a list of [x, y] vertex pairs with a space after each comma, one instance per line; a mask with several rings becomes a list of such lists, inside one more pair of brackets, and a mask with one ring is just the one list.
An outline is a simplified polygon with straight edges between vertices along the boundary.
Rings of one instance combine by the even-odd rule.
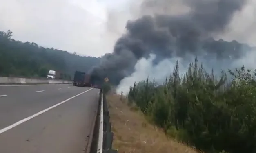
[[[256, 152], [255, 71], [207, 73], [197, 59], [180, 76], [178, 62], [162, 85], [141, 81], [130, 87], [136, 105], [167, 137], [207, 153]], [[132, 119], [132, 118], [131, 118]]]

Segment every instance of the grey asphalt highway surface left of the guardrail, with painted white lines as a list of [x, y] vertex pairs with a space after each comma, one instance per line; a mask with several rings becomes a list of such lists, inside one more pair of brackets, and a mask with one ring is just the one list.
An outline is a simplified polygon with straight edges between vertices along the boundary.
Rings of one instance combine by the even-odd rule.
[[0, 85], [0, 153], [84, 153], [100, 90]]

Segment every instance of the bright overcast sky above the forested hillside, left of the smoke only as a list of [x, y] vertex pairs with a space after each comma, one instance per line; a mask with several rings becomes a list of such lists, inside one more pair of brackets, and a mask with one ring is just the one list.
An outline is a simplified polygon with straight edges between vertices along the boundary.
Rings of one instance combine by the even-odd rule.
[[[109, 0], [110, 1], [110, 0]], [[101, 56], [120, 36], [106, 28], [106, 7], [122, 0], [0, 0], [0, 31], [40, 46]]]

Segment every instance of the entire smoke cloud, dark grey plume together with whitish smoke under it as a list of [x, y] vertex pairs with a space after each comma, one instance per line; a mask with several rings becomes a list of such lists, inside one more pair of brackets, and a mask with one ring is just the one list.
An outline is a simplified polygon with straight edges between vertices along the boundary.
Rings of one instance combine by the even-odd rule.
[[[246, 0], [145, 0], [136, 12], [141, 17], [128, 20], [127, 31], [117, 40], [114, 51], [103, 56], [90, 73], [108, 77], [118, 85], [129, 82], [129, 78], [145, 79], [134, 72], [160, 74], [168, 71], [166, 67], [172, 69], [171, 64], [177, 59], [186, 66], [196, 56], [207, 61], [209, 68], [226, 68], [251, 48], [213, 37], [225, 31], [234, 13], [245, 3]], [[174, 4], [183, 11], [173, 13], [170, 8]]]

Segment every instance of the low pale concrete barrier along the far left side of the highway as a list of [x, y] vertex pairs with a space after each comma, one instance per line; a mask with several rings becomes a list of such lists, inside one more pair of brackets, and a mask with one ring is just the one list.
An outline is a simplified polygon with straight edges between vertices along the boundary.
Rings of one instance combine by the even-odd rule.
[[67, 80], [47, 80], [18, 77], [0, 77], [0, 84], [71, 84]]

